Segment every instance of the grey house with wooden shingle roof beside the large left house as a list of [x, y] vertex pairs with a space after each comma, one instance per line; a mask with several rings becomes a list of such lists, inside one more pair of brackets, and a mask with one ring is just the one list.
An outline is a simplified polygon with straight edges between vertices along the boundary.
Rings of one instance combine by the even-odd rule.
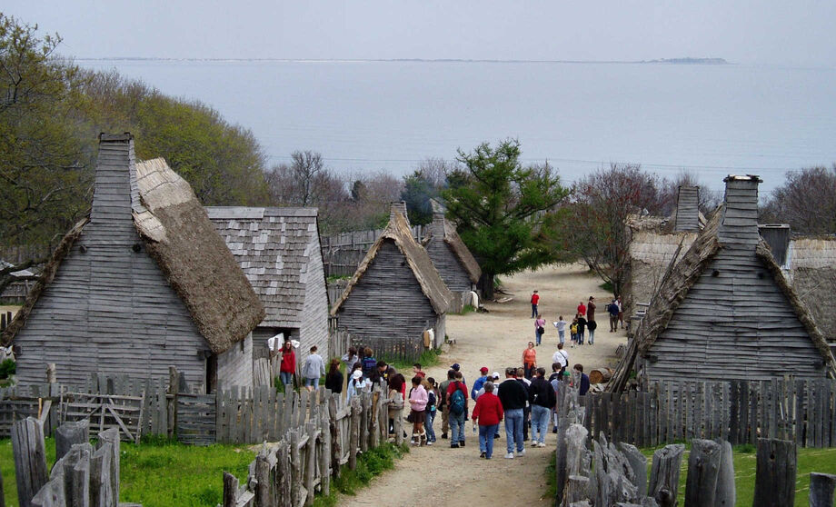
[[266, 316], [253, 332], [254, 359], [268, 356], [267, 340], [278, 333], [301, 342], [302, 356], [316, 345], [327, 357], [328, 294], [316, 208], [206, 211], [264, 304]]

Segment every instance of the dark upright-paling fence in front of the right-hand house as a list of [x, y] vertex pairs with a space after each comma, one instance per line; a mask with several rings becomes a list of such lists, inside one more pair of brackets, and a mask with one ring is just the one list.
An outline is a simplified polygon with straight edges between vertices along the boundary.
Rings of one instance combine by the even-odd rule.
[[836, 380], [654, 383], [649, 392], [588, 393], [584, 426], [639, 447], [692, 439], [781, 439], [836, 447]]

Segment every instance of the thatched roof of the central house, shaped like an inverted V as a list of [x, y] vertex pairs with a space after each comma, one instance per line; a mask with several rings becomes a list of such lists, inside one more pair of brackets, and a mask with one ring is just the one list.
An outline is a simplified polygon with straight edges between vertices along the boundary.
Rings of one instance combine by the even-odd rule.
[[366, 253], [363, 262], [357, 267], [357, 271], [354, 272], [351, 280], [345, 286], [345, 290], [340, 295], [340, 298], [333, 303], [331, 314], [336, 315], [339, 312], [340, 306], [343, 305], [343, 302], [351, 294], [354, 285], [363, 278], [363, 274], [369, 269], [381, 245], [387, 240], [393, 241], [398, 247], [398, 250], [406, 258], [406, 262], [409, 264], [410, 269], [413, 270], [415, 278], [421, 285], [422, 292], [433, 305], [435, 313], [439, 315], [447, 313], [447, 310], [450, 309], [450, 305], [453, 303], [453, 293], [444, 284], [441, 275], [439, 275], [438, 270], [433, 265], [433, 261], [430, 260], [430, 255], [413, 238], [412, 231], [403, 214], [398, 211], [393, 211], [389, 224], [386, 225], [383, 233], [372, 244], [369, 252]]

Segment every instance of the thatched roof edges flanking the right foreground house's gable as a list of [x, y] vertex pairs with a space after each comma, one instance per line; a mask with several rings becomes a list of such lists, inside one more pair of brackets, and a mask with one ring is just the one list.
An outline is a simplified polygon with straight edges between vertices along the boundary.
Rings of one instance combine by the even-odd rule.
[[[676, 264], [670, 276], [662, 282], [659, 291], [654, 295], [651, 306], [647, 309], [635, 336], [640, 354], [647, 353], [650, 350], [652, 344], [667, 328], [673, 313], [685, 300], [694, 283], [700, 279], [706, 266], [723, 248], [718, 236], [723, 216], [724, 208], [721, 207], [712, 215], [711, 220], [697, 236], [691, 248], [682, 256], [682, 260]], [[795, 293], [783, 273], [781, 273], [781, 267], [772, 258], [769, 245], [761, 240], [755, 249], [755, 254], [761, 259], [761, 262], [772, 274], [775, 283], [786, 295], [793, 311], [810, 335], [825, 363], [831, 364], [831, 355], [827, 343], [816, 328], [807, 308], [801, 303], [798, 294]]]

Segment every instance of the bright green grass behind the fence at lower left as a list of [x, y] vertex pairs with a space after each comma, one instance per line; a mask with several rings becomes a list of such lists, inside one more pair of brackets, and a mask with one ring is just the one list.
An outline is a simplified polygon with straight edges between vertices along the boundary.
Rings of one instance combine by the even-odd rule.
[[[55, 439], [46, 439], [47, 465], [55, 462]], [[246, 480], [247, 467], [255, 458], [245, 446], [195, 447], [151, 441], [140, 445], [122, 442], [121, 502], [144, 507], [206, 505], [222, 501], [224, 471]], [[12, 442], [0, 440], [0, 472], [3, 473], [5, 504], [17, 505], [15, 460]]]

